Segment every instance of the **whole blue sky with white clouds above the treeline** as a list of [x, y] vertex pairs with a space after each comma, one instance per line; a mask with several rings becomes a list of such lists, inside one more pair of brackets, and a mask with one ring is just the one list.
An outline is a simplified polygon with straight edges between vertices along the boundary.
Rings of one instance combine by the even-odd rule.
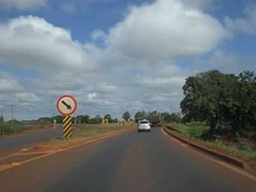
[[186, 78], [256, 70], [255, 0], [0, 0], [0, 114], [180, 111]]

